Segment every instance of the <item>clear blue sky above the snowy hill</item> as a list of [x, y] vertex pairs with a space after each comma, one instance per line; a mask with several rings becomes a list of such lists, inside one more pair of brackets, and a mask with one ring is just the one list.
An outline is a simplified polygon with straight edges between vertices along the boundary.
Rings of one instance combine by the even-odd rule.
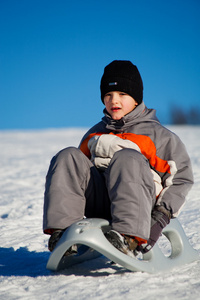
[[160, 121], [200, 108], [199, 0], [0, 0], [0, 129], [90, 127], [100, 79], [131, 60]]

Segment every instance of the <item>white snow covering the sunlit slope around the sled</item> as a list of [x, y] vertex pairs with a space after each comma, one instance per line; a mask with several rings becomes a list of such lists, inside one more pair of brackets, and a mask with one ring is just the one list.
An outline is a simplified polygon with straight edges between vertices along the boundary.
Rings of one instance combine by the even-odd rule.
[[[185, 143], [195, 184], [179, 215], [200, 254], [200, 127], [169, 127]], [[200, 299], [200, 261], [160, 274], [130, 272], [100, 257], [60, 273], [46, 269], [42, 232], [52, 156], [78, 146], [86, 129], [0, 131], [0, 299]]]

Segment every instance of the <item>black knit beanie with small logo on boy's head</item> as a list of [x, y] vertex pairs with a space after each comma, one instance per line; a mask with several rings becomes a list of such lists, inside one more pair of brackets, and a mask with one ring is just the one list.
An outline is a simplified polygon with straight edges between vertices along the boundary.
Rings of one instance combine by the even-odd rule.
[[111, 91], [124, 92], [140, 104], [143, 99], [143, 82], [138, 68], [128, 60], [114, 60], [104, 68], [101, 78], [101, 100]]

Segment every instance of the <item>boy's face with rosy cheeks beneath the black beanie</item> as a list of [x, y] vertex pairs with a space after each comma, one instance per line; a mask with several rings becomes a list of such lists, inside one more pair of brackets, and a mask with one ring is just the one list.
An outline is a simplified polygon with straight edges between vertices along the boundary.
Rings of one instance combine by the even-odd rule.
[[131, 96], [124, 92], [117, 91], [105, 94], [104, 104], [113, 120], [120, 120], [138, 105]]

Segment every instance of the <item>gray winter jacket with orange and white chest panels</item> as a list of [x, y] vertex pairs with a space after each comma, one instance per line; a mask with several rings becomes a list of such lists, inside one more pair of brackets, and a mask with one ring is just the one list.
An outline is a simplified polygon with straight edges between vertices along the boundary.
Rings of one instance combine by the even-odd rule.
[[157, 204], [176, 217], [193, 184], [190, 158], [177, 135], [162, 126], [144, 102], [120, 120], [104, 110], [102, 121], [83, 137], [79, 148], [101, 170], [122, 148], [141, 152], [149, 161], [157, 184]]

